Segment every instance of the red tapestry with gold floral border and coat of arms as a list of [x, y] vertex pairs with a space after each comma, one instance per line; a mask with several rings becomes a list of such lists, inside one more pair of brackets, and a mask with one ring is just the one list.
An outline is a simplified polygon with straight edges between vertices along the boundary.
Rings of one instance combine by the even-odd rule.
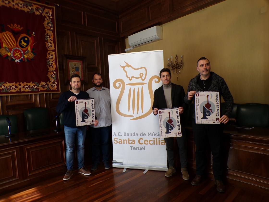
[[0, 0], [0, 95], [60, 92], [53, 6]]

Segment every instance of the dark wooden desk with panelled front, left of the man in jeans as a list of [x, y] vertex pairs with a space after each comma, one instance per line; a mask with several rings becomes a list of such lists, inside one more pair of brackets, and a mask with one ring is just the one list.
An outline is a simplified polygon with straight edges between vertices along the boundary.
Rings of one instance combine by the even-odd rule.
[[0, 194], [66, 172], [64, 133], [46, 131], [34, 137], [15, 134], [10, 141], [0, 137]]

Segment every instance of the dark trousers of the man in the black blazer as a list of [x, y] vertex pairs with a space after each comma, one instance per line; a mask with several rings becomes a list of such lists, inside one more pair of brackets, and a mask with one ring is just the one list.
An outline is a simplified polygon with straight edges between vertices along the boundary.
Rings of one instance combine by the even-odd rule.
[[[182, 137], [176, 137], [179, 148], [179, 157], [181, 168], [187, 168], [187, 147], [186, 147], [186, 132], [185, 128], [181, 128]], [[175, 154], [174, 154], [174, 138], [164, 138], [166, 144], [167, 161], [169, 166], [175, 166]]]

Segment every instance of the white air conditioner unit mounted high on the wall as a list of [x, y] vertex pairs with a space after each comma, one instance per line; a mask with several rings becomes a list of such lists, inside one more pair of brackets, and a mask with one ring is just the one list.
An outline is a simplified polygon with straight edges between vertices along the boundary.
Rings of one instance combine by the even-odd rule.
[[130, 47], [138, 47], [162, 39], [162, 27], [154, 26], [128, 37]]

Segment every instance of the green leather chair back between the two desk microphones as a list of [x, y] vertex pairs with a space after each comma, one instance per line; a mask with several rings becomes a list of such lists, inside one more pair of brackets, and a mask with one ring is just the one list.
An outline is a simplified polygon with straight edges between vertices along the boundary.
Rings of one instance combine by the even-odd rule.
[[48, 109], [45, 107], [34, 107], [23, 110], [26, 130], [39, 130], [50, 127]]

